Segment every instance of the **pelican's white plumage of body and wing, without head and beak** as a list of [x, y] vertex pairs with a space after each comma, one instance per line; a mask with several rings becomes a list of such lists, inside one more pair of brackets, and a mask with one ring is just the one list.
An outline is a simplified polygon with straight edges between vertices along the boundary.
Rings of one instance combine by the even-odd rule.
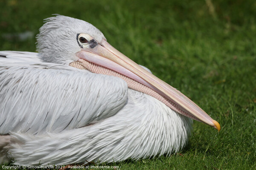
[[7, 57], [0, 60], [0, 133], [15, 142], [8, 148], [15, 164], [139, 159], [188, 141], [191, 119], [122, 79], [38, 62], [36, 53], [26, 62], [17, 62], [23, 52], [0, 55]]

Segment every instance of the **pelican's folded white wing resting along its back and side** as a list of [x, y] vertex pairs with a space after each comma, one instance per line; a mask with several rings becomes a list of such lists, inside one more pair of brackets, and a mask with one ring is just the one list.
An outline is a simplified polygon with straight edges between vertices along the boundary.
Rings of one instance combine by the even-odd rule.
[[0, 56], [0, 134], [83, 127], [112, 116], [127, 100], [122, 79], [41, 62], [36, 53]]

